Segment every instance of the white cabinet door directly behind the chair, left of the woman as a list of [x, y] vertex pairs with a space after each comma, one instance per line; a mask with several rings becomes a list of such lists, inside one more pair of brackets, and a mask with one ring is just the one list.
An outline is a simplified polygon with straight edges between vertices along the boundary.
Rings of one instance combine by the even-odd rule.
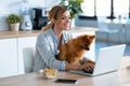
[[23, 49], [25, 47], [35, 47], [37, 37], [17, 38], [18, 40], [18, 74], [24, 74]]

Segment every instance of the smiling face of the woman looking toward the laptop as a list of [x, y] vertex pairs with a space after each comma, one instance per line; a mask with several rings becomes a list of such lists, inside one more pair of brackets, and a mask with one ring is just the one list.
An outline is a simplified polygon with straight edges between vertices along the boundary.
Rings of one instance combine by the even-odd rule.
[[60, 17], [58, 20], [54, 23], [54, 27], [61, 30], [67, 30], [69, 29], [70, 24], [70, 14], [69, 11], [66, 11], [63, 13], [62, 17]]

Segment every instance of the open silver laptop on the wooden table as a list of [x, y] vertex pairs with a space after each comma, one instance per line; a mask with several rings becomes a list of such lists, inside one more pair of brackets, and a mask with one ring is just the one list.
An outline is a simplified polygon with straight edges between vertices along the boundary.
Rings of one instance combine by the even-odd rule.
[[80, 71], [73, 70], [70, 72], [94, 76], [94, 75], [117, 71], [120, 66], [120, 61], [121, 61], [121, 57], [123, 56], [125, 48], [126, 48], [126, 44], [100, 48], [99, 55], [95, 58], [95, 67], [92, 72], [87, 72], [87, 71], [84, 72], [83, 70]]

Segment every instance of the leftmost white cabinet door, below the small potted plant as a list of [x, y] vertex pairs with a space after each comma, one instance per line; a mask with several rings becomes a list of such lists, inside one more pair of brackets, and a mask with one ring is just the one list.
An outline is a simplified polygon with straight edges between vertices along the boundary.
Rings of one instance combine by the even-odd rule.
[[17, 74], [16, 39], [0, 40], [0, 77]]

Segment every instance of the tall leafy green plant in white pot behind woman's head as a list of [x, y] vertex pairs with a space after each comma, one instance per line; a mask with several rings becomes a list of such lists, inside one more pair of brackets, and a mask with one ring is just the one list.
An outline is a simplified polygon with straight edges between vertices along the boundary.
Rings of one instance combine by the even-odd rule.
[[70, 19], [72, 24], [70, 27], [75, 27], [75, 16], [82, 13], [80, 4], [83, 2], [83, 0], [62, 0], [60, 4], [66, 5], [70, 10]]

